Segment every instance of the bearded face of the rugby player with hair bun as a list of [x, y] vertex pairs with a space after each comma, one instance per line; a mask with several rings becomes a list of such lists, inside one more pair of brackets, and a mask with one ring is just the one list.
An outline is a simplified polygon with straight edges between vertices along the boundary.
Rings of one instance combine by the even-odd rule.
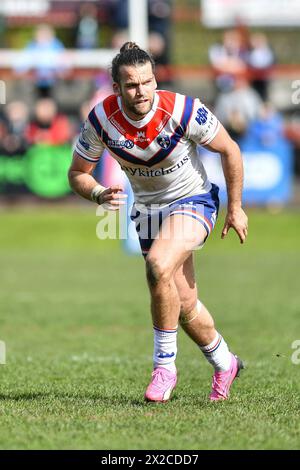
[[141, 65], [121, 65], [120, 84], [114, 83], [114, 92], [121, 96], [125, 113], [139, 121], [149, 113], [157, 87], [150, 62]]

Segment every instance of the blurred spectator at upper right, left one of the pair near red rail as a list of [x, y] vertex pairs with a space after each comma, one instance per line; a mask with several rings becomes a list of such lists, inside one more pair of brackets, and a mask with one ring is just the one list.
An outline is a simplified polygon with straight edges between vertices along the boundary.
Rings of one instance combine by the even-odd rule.
[[216, 73], [219, 90], [229, 91], [234, 87], [235, 77], [247, 74], [248, 45], [240, 29], [225, 31], [222, 44], [209, 49], [209, 60]]

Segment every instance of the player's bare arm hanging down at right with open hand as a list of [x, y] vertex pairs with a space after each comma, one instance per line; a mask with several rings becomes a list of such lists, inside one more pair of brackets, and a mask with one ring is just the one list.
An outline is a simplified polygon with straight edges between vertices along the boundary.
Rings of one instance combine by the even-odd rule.
[[248, 235], [248, 218], [242, 209], [243, 190], [243, 160], [239, 146], [231, 139], [227, 131], [221, 126], [216, 137], [206, 145], [208, 150], [221, 154], [223, 172], [227, 186], [227, 215], [222, 230], [224, 238], [232, 227], [238, 234], [241, 243]]

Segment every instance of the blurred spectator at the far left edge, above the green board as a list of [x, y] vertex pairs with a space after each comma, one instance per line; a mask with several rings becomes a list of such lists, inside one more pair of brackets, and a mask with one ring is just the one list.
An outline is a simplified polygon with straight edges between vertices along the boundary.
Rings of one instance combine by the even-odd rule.
[[4, 108], [0, 123], [0, 152], [2, 155], [22, 155], [29, 144], [26, 131], [29, 123], [29, 110], [25, 103], [12, 101]]

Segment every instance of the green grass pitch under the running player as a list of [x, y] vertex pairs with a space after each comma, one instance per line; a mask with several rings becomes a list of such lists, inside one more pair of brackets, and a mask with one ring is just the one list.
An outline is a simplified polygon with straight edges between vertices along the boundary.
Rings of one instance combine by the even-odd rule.
[[199, 296], [246, 370], [209, 403], [212, 369], [180, 331], [174, 398], [153, 405], [143, 259], [96, 238], [94, 206], [2, 210], [0, 448], [299, 448], [300, 217], [248, 215], [244, 246], [220, 239], [221, 216], [196, 256]]

